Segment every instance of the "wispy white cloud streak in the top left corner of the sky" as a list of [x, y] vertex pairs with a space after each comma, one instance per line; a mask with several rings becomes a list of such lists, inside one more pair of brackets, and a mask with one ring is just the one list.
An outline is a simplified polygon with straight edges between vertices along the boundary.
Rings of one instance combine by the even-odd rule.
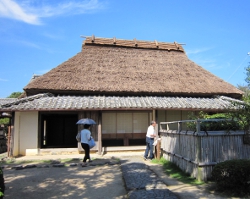
[[[103, 8], [98, 0], [58, 1], [56, 5], [46, 4], [46, 1], [32, 0], [0, 0], [0, 17], [15, 19], [25, 23], [40, 25], [41, 18], [62, 15], [78, 15], [94, 12]], [[62, 3], [61, 3], [62, 2]]]

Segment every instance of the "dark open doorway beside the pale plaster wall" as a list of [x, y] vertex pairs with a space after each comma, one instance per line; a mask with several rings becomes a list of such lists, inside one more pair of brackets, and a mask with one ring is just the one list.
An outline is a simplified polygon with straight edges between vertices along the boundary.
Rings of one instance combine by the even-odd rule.
[[42, 115], [42, 148], [75, 148], [78, 115]]

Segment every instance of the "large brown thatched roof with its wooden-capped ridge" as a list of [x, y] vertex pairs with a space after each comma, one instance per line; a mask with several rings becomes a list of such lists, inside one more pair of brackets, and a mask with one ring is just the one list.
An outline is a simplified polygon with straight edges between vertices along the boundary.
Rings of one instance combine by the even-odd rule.
[[82, 51], [24, 88], [27, 96], [224, 95], [242, 92], [188, 59], [178, 43], [87, 37]]

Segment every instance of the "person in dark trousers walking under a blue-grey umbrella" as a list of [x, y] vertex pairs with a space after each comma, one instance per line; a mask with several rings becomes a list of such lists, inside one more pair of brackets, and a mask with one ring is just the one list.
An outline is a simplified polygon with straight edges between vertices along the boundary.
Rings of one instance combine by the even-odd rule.
[[90, 147], [89, 147], [89, 140], [91, 139], [91, 132], [90, 126], [96, 124], [94, 120], [91, 119], [81, 119], [76, 124], [83, 124], [83, 130], [81, 130], [81, 146], [85, 151], [85, 156], [83, 158], [82, 167], [87, 166], [87, 160], [92, 162], [90, 158]]

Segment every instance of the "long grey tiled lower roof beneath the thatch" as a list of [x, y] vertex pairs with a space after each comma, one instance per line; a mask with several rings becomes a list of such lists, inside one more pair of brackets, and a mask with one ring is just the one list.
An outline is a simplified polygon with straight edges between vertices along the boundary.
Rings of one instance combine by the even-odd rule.
[[54, 96], [49, 93], [0, 104], [1, 111], [74, 111], [119, 109], [179, 109], [179, 110], [225, 110], [230, 97], [214, 98], [159, 97], [159, 96]]

